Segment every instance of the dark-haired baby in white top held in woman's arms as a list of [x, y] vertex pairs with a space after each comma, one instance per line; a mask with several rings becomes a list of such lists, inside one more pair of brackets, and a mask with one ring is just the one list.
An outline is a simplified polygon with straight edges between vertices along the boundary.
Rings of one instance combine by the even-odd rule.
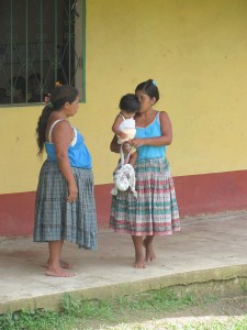
[[[116, 116], [112, 125], [112, 131], [116, 134], [119, 144], [123, 144], [135, 138], [136, 129], [134, 116], [139, 110], [139, 107], [138, 98], [134, 94], [127, 94], [121, 98], [119, 105], [120, 113]], [[128, 163], [133, 166], [136, 158], [137, 152], [132, 148]]]

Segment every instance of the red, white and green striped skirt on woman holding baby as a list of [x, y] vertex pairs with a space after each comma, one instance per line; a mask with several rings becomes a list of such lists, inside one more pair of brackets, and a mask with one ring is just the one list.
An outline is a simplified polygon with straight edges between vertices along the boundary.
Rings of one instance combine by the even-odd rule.
[[135, 166], [137, 199], [132, 191], [112, 197], [110, 227], [131, 235], [166, 235], [180, 230], [173, 180], [165, 158]]

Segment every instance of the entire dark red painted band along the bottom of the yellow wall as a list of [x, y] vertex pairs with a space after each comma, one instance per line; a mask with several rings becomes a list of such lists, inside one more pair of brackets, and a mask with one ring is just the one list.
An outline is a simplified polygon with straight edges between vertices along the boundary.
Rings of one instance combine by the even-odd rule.
[[[180, 216], [247, 209], [247, 170], [175, 177]], [[109, 228], [112, 184], [94, 187], [99, 228]], [[35, 193], [0, 195], [0, 237], [32, 235]]]

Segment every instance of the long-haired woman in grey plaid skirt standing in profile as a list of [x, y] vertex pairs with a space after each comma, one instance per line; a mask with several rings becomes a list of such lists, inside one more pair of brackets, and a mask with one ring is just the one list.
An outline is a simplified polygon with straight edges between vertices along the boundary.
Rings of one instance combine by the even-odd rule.
[[69, 123], [77, 113], [79, 94], [58, 86], [37, 122], [38, 155], [46, 151], [36, 191], [34, 242], [48, 242], [47, 276], [71, 277], [61, 260], [64, 241], [97, 250], [97, 217], [92, 161], [83, 136]]

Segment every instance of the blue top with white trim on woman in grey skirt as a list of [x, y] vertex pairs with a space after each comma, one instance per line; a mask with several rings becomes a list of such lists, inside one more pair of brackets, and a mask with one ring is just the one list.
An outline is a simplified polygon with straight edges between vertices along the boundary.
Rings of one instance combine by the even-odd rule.
[[[71, 124], [70, 124], [71, 125]], [[68, 157], [70, 165], [72, 167], [80, 168], [92, 168], [91, 155], [85, 144], [85, 140], [79, 131], [74, 128], [75, 139], [68, 147]], [[45, 151], [47, 154], [47, 160], [52, 162], [57, 162], [55, 145], [52, 142], [45, 142]]]

